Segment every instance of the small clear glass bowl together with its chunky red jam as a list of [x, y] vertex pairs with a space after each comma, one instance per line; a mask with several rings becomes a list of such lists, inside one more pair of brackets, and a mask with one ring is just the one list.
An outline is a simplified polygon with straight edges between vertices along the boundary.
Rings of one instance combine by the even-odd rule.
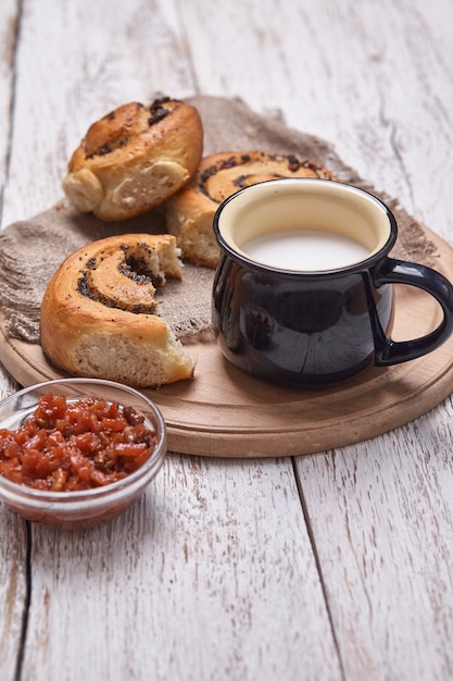
[[119, 383], [61, 379], [0, 401], [0, 499], [33, 522], [78, 529], [115, 518], [165, 453], [161, 412]]

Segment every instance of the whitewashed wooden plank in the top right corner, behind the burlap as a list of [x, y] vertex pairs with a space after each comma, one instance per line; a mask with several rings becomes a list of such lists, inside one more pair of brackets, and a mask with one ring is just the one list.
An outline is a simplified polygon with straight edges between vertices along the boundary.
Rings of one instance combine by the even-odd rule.
[[289, 125], [332, 143], [377, 189], [448, 233], [441, 207], [453, 163], [452, 3], [221, 5], [181, 7], [201, 91], [281, 111]]

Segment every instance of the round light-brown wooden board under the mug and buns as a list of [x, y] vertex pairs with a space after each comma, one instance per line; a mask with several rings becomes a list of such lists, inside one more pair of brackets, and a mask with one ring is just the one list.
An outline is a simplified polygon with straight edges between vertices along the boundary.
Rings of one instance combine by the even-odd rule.
[[[453, 250], [427, 231], [437, 246], [436, 269], [453, 272]], [[433, 299], [395, 286], [395, 340], [432, 330], [441, 319]], [[24, 386], [65, 374], [39, 345], [7, 336], [0, 319], [0, 360]], [[353, 444], [416, 419], [453, 391], [453, 337], [426, 357], [372, 369], [335, 387], [299, 389], [254, 380], [222, 356], [214, 340], [188, 346], [196, 377], [143, 391], [161, 409], [168, 449], [211, 457], [281, 457]]]

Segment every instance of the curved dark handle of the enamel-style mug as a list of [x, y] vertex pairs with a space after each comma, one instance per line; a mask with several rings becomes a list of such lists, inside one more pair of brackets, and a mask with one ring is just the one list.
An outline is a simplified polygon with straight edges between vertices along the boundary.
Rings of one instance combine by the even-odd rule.
[[374, 271], [377, 288], [382, 284], [408, 284], [433, 296], [443, 310], [439, 326], [419, 338], [395, 342], [382, 337], [382, 347], [376, 351], [375, 364], [398, 364], [431, 352], [453, 333], [453, 286], [439, 272], [416, 262], [386, 258]]

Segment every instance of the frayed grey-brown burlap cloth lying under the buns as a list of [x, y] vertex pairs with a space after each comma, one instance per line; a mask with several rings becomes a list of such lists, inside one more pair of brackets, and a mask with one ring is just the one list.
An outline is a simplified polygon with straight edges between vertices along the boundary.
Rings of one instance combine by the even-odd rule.
[[[338, 158], [331, 145], [289, 128], [279, 112], [260, 115], [239, 99], [193, 97], [204, 126], [204, 156], [217, 151], [264, 150], [294, 153], [324, 165], [341, 179], [368, 189], [393, 210], [399, 223], [394, 255], [429, 264], [436, 251], [419, 225], [395, 200], [379, 195]], [[163, 209], [121, 223], [104, 223], [76, 212], [66, 200], [0, 234], [0, 304], [5, 332], [39, 343], [39, 310], [52, 274], [66, 256], [87, 243], [112, 234], [165, 232]], [[189, 340], [209, 334], [213, 271], [185, 263], [183, 282], [168, 280], [159, 294], [159, 310], [177, 337]]]

